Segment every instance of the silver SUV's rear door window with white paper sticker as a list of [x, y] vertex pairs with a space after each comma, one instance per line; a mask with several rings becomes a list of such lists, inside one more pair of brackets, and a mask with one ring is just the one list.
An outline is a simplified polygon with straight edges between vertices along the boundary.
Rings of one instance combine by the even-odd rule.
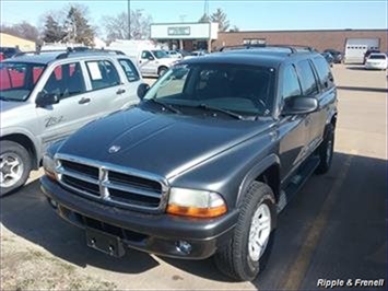
[[120, 77], [115, 66], [107, 60], [96, 60], [86, 62], [92, 89], [104, 89], [120, 84]]

